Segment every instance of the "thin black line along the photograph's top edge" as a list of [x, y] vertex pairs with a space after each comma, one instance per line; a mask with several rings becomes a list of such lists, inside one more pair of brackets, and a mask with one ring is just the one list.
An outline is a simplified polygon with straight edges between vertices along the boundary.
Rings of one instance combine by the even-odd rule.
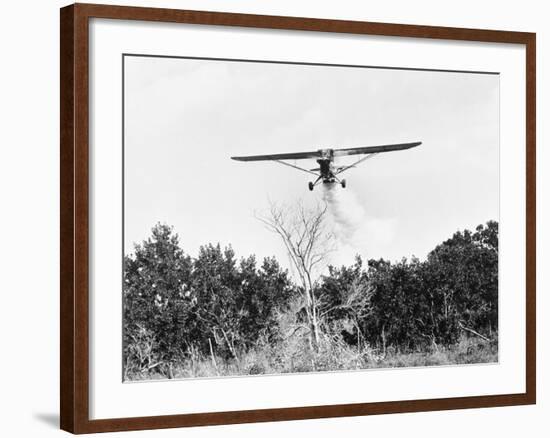
[[385, 67], [380, 65], [357, 65], [357, 64], [325, 64], [320, 62], [299, 62], [299, 61], [271, 61], [266, 59], [241, 59], [241, 58], [212, 58], [206, 56], [177, 56], [177, 55], [150, 55], [146, 53], [122, 53], [122, 57], [132, 56], [135, 58], [170, 58], [170, 59], [192, 59], [200, 61], [225, 61], [225, 62], [251, 62], [257, 64], [288, 64], [288, 65], [304, 65], [316, 67], [347, 67], [347, 68], [371, 68], [377, 70], [404, 70], [404, 71], [426, 71], [438, 73], [470, 73], [480, 75], [500, 75], [496, 71], [481, 71], [481, 70], [446, 70], [437, 68], [420, 68], [420, 67]]

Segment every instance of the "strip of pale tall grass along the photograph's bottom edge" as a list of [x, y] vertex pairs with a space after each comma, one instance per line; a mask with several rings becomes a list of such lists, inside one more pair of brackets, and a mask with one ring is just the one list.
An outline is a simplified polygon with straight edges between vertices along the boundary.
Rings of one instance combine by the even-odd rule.
[[170, 367], [142, 372], [127, 372], [127, 380], [166, 378], [204, 378], [261, 374], [285, 374], [362, 370], [371, 368], [427, 367], [458, 364], [495, 363], [498, 361], [498, 342], [463, 336], [450, 346], [433, 346], [426, 351], [386, 352], [345, 344], [341, 339], [324, 338], [317, 352], [309, 347], [306, 338], [292, 338], [276, 347], [258, 345], [238, 356], [224, 360], [218, 356], [187, 355]]

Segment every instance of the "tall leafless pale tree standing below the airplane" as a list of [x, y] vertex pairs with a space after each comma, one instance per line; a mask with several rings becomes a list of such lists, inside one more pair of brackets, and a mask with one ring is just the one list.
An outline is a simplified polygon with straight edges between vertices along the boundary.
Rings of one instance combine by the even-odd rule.
[[301, 201], [293, 206], [270, 202], [267, 214], [256, 215], [285, 245], [303, 289], [310, 345], [315, 351], [319, 348], [319, 305], [314, 287], [322, 262], [334, 249], [334, 235], [326, 226], [327, 208], [326, 204], [307, 208]]

